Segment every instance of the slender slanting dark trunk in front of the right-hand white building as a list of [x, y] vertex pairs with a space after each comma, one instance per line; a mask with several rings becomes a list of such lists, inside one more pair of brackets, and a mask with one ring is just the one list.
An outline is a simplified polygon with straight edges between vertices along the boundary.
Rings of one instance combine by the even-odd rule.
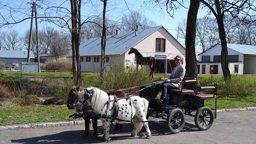
[[223, 18], [224, 14], [221, 13], [221, 8], [219, 4], [219, 0], [215, 0], [216, 11], [217, 11], [217, 23], [219, 27], [219, 38], [221, 42], [221, 68], [223, 72], [224, 81], [229, 81], [231, 79], [230, 71], [229, 71], [229, 63], [228, 63], [228, 48], [227, 48], [227, 39], [226, 33], [224, 29]]

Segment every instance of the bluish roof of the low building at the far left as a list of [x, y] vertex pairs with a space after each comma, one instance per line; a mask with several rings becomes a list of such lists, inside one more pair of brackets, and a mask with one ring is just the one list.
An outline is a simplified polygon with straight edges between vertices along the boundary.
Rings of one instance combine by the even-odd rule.
[[[27, 51], [0, 50], [0, 58], [27, 58]], [[35, 58], [32, 52], [30, 53], [30, 58]]]

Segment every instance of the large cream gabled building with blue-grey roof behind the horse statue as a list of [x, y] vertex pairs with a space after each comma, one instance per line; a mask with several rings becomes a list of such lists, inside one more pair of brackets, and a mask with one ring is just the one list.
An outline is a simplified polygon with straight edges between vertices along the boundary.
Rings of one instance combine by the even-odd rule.
[[[156, 72], [171, 73], [169, 62], [174, 68], [173, 58], [183, 55], [185, 48], [163, 26], [139, 29], [128, 33], [107, 36], [106, 69], [112, 64], [121, 63], [124, 67], [135, 66], [135, 54], [128, 54], [131, 47], [136, 48], [143, 56], [156, 59]], [[80, 45], [81, 69], [84, 72], [99, 72], [101, 65], [101, 37], [91, 38]], [[168, 62], [169, 61], [169, 62]], [[150, 72], [148, 66], [144, 70]]]

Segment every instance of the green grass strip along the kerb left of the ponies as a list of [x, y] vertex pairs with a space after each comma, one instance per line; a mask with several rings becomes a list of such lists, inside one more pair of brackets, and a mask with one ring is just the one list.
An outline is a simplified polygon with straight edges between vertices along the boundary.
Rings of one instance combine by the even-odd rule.
[[0, 126], [72, 120], [73, 113], [65, 105], [0, 107]]

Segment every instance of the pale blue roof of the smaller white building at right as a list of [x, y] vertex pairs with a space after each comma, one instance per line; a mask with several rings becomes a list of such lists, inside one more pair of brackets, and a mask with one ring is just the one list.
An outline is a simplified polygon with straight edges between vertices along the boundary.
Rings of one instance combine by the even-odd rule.
[[[220, 43], [217, 43], [216, 45], [221, 45]], [[211, 46], [209, 49], [215, 47], [216, 45]], [[227, 44], [227, 47], [237, 51], [238, 53], [241, 54], [253, 54], [256, 55], [256, 45], [238, 45], [238, 44]], [[208, 51], [209, 49], [207, 49], [206, 51]], [[200, 53], [203, 54], [206, 51]], [[198, 54], [199, 55], [199, 54]]]

